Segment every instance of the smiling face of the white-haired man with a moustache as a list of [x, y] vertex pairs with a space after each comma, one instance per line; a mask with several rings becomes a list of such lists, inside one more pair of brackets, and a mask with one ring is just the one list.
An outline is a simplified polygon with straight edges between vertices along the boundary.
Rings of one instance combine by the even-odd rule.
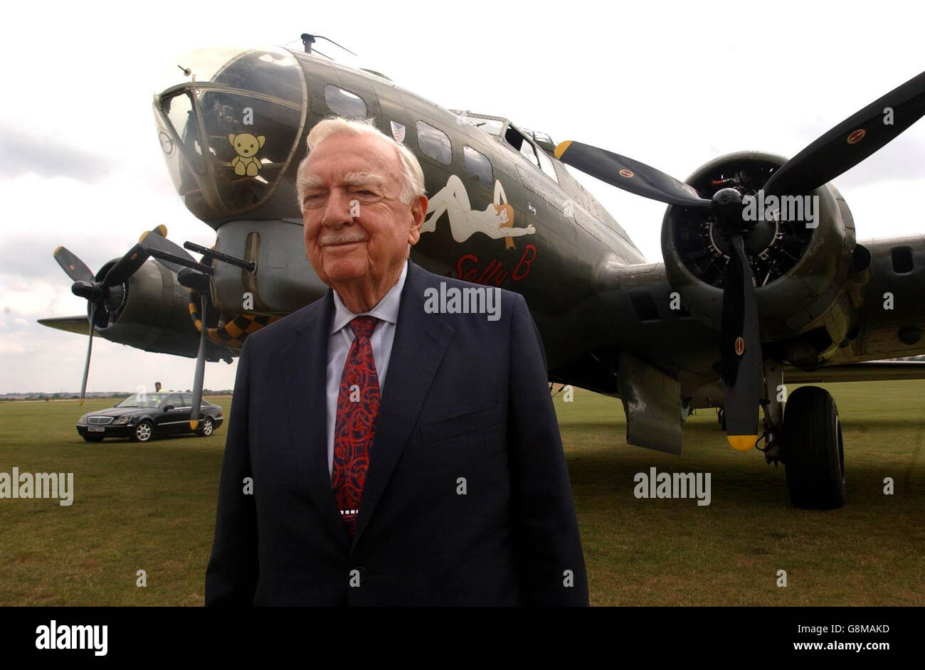
[[394, 146], [375, 136], [331, 135], [309, 155], [300, 177], [305, 252], [327, 286], [378, 284], [401, 272], [427, 199], [402, 202], [400, 176]]

